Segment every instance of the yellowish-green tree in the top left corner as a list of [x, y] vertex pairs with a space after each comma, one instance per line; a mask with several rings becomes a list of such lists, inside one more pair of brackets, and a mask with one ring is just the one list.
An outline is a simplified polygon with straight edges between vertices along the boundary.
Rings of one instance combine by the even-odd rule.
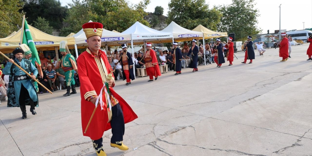
[[0, 6], [0, 38], [4, 38], [22, 27], [23, 12], [19, 12], [19, 10], [22, 8], [23, 2], [21, 0], [0, 0]]

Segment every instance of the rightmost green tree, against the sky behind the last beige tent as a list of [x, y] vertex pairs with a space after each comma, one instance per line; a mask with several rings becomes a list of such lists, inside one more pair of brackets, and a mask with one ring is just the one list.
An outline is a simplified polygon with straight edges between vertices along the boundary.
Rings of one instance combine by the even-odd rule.
[[232, 4], [219, 7], [222, 19], [218, 30], [235, 33], [236, 41], [246, 40], [247, 36], [253, 36], [261, 32], [257, 27], [259, 11], [254, 9], [254, 0], [232, 0]]

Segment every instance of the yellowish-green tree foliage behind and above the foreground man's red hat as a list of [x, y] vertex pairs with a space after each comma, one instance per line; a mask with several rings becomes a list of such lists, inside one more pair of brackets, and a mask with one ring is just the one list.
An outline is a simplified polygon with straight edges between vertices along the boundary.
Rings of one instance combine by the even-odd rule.
[[78, 32], [90, 20], [102, 23], [104, 29], [118, 32], [123, 32], [137, 21], [149, 26], [143, 19], [147, 15], [144, 9], [149, 2], [150, 0], [143, 0], [132, 5], [126, 0], [73, 0], [69, 4], [68, 16], [65, 18], [66, 27], [62, 28], [61, 36]]

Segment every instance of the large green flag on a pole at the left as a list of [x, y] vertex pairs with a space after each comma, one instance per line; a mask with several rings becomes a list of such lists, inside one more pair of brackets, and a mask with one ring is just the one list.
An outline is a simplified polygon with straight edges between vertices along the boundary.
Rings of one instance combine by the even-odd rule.
[[[38, 51], [36, 49], [35, 42], [32, 40], [32, 34], [30, 33], [26, 19], [24, 23], [22, 43], [26, 44], [29, 47], [29, 49], [32, 51], [32, 60], [36, 61], [39, 65], [41, 65]], [[34, 64], [34, 62], [32, 63]]]

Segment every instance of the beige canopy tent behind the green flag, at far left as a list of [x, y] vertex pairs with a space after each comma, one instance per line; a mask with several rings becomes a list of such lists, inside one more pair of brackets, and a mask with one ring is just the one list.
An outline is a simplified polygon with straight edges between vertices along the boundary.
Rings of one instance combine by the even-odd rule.
[[[38, 51], [56, 50], [56, 48], [59, 48], [61, 41], [67, 41], [67, 45], [75, 44], [74, 37], [58, 37], [49, 35], [30, 25], [29, 30]], [[2, 53], [12, 53], [12, 51], [19, 46], [22, 35], [21, 31], [22, 29], [12, 36], [0, 39], [0, 51]]]

